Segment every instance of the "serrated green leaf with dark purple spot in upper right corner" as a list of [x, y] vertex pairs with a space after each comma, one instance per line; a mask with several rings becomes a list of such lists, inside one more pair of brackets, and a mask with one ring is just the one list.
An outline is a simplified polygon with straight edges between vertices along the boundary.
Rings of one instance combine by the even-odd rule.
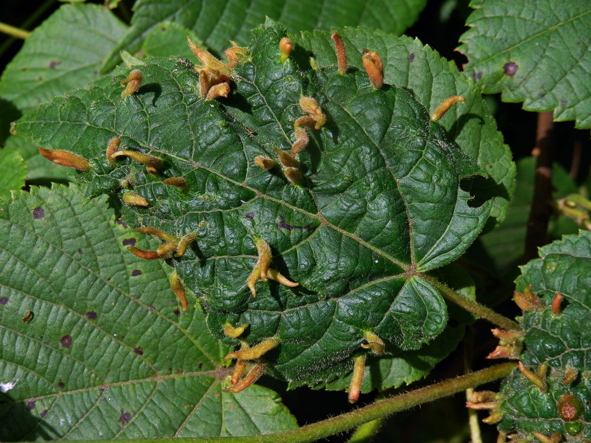
[[467, 76], [485, 93], [557, 121], [591, 128], [591, 8], [560, 0], [473, 0], [457, 50]]

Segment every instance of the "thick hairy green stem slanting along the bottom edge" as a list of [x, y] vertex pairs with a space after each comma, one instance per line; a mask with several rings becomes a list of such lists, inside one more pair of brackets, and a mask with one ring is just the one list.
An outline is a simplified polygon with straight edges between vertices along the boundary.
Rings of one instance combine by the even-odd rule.
[[[445, 380], [431, 386], [393, 396], [372, 403], [342, 415], [329, 418], [291, 431], [246, 437], [201, 437], [201, 438], [152, 438], [128, 439], [125, 443], [308, 443], [339, 432], [348, 431], [395, 412], [413, 408], [422, 403], [432, 402], [443, 397], [462, 392], [469, 387], [492, 382], [506, 377], [517, 366], [515, 363], [501, 363], [454, 379]], [[111, 443], [111, 440], [93, 440], [79, 443]]]

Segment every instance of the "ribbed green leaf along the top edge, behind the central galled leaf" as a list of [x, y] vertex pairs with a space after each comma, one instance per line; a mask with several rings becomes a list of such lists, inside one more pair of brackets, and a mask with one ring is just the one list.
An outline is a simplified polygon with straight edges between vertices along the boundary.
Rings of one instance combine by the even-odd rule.
[[366, 25], [402, 34], [417, 19], [426, 0], [138, 0], [134, 4], [131, 27], [111, 52], [102, 71], [118, 63], [119, 50], [139, 50], [148, 34], [163, 21], [189, 28], [207, 47], [222, 54], [228, 40], [246, 45], [250, 30], [265, 17], [283, 22], [291, 32], [330, 30], [333, 26]]

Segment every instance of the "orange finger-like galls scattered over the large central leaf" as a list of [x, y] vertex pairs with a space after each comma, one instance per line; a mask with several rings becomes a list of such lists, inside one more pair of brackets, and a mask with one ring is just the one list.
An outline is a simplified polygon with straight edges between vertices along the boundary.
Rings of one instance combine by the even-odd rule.
[[[335, 43], [337, 70], [340, 75], [344, 76], [347, 73], [347, 57], [345, 52], [345, 44], [337, 32], [331, 35]], [[204, 100], [216, 100], [220, 97], [228, 97], [230, 92], [230, 79], [232, 77], [233, 69], [244, 58], [248, 57], [249, 53], [246, 48], [239, 47], [232, 42], [232, 47], [225, 51], [228, 57], [228, 63], [223, 63], [212, 54], [194, 44], [188, 37], [189, 47], [195, 56], [201, 62], [201, 66], [194, 66], [197, 74], [199, 74], [199, 95]], [[284, 37], [279, 43], [279, 59], [281, 63], [285, 63], [289, 56], [292, 45], [290, 39]], [[384, 84], [384, 64], [382, 63], [379, 54], [375, 51], [363, 50], [362, 52], [363, 67], [368, 74], [369, 81], [375, 89], [381, 89]], [[318, 69], [316, 62], [311, 59], [311, 64], [314, 69]], [[126, 79], [122, 80], [121, 87], [124, 91], [121, 96], [123, 99], [133, 96], [139, 92], [142, 83], [142, 72], [139, 69], [134, 69], [129, 73]], [[464, 97], [453, 96], [443, 103], [431, 114], [431, 120], [436, 121], [447, 112], [447, 110], [458, 101], [465, 101]], [[293, 125], [294, 142], [291, 146], [291, 152], [285, 152], [281, 149], [274, 148], [277, 152], [277, 159], [272, 159], [259, 155], [254, 159], [255, 164], [264, 170], [271, 170], [275, 168], [277, 163], [281, 165], [281, 170], [288, 181], [296, 185], [302, 185], [304, 181], [301, 172], [301, 165], [297, 159], [298, 152], [305, 149], [309, 144], [310, 137], [308, 131], [319, 131], [326, 122], [326, 115], [320, 108], [313, 97], [303, 96], [299, 100], [299, 106], [304, 115], [296, 119]], [[163, 159], [155, 157], [154, 155], [144, 154], [142, 152], [119, 150], [121, 139], [118, 137], [112, 138], [106, 149], [106, 159], [109, 163], [115, 164], [116, 161], [122, 158], [130, 158], [142, 165], [145, 165], [146, 171], [150, 174], [158, 175], [158, 171], [163, 167]], [[43, 149], [39, 148], [43, 157], [67, 167], [73, 167], [81, 171], [89, 171], [89, 161], [80, 155], [73, 152], [64, 151], [61, 149]], [[183, 177], [169, 177], [163, 180], [166, 185], [173, 185], [187, 190], [187, 181]], [[129, 188], [127, 180], [122, 181], [122, 187]], [[124, 203], [134, 206], [149, 206], [150, 202], [144, 197], [138, 196], [131, 191], [125, 191], [122, 197]], [[162, 230], [152, 227], [142, 227], [137, 229], [137, 232], [151, 234], [163, 240], [163, 244], [154, 251], [141, 250], [135, 246], [129, 246], [129, 251], [142, 259], [163, 259], [174, 257], [178, 258], [184, 255], [190, 243], [196, 239], [194, 233], [187, 234], [182, 238], [177, 238]], [[255, 285], [259, 279], [263, 282], [271, 278], [282, 285], [297, 286], [297, 282], [292, 282], [281, 275], [276, 269], [269, 267], [271, 264], [271, 249], [267, 242], [263, 239], [256, 239], [256, 248], [258, 250], [258, 260], [251, 275], [246, 281], [246, 286], [251, 290], [252, 296], [255, 297]], [[170, 277], [170, 286], [174, 293], [181, 301], [183, 311], [187, 310], [187, 298], [185, 289], [175, 272]], [[239, 338], [240, 335], [248, 327], [248, 324], [243, 324], [239, 327], [234, 327], [231, 324], [226, 324], [224, 332], [232, 338]], [[376, 334], [368, 332], [365, 335], [365, 341], [361, 347], [371, 350], [374, 354], [382, 354], [385, 350], [384, 341]], [[240, 392], [246, 387], [251, 386], [265, 371], [266, 363], [261, 360], [261, 357], [269, 350], [279, 344], [279, 340], [269, 338], [257, 344], [254, 347], [249, 347], [248, 344], [242, 342], [241, 350], [228, 354], [225, 358], [236, 359], [235, 370], [230, 381], [230, 385], [226, 387], [227, 392]], [[353, 365], [353, 376], [349, 389], [349, 401], [355, 402], [359, 398], [361, 392], [361, 383], [363, 380], [363, 373], [365, 368], [366, 356], [355, 357]], [[248, 361], [257, 360], [248, 374], [243, 377]]]

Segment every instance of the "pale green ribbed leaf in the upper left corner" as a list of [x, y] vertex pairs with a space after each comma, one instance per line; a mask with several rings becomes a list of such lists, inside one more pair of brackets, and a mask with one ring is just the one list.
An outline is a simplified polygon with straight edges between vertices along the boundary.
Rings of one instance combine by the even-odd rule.
[[125, 33], [98, 5], [63, 5], [27, 38], [0, 79], [0, 97], [28, 110], [64, 91], [86, 87]]

